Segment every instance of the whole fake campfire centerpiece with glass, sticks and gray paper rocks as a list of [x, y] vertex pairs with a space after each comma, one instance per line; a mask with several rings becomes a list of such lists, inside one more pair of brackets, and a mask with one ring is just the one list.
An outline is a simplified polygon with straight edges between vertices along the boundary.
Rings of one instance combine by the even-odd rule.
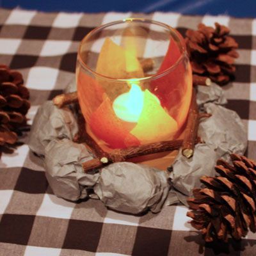
[[198, 84], [211, 80], [192, 76], [184, 39], [168, 25], [127, 19], [94, 29], [80, 45], [76, 83], [40, 106], [31, 127], [29, 147], [54, 194], [132, 214], [187, 204], [216, 159], [243, 154], [247, 141], [239, 116], [221, 106], [223, 90]]

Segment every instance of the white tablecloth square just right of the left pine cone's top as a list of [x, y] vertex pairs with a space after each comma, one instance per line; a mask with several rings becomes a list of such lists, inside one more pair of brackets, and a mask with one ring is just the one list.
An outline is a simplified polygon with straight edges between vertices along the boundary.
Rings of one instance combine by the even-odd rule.
[[32, 67], [29, 70], [26, 86], [29, 89], [52, 90], [58, 76], [58, 69]]

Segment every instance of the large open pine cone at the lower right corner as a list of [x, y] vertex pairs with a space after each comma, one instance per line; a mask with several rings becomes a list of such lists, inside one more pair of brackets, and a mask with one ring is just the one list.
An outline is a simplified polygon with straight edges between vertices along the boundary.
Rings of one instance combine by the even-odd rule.
[[248, 229], [256, 232], [256, 163], [236, 154], [231, 159], [233, 166], [219, 160], [216, 171], [220, 176], [202, 177], [206, 188], [194, 189], [195, 198], [188, 198], [193, 211], [187, 216], [207, 242], [227, 242], [228, 235], [238, 240]]

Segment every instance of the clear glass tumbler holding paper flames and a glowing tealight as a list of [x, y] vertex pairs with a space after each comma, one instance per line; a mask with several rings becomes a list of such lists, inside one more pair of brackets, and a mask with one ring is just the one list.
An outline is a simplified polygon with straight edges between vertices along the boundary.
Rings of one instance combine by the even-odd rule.
[[93, 29], [76, 81], [86, 129], [105, 149], [173, 140], [184, 128], [191, 67], [184, 39], [166, 24], [124, 19]]

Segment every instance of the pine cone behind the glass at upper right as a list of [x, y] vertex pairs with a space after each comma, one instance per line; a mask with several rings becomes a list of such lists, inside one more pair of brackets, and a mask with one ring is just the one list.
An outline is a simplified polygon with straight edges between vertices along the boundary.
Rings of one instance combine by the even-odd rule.
[[229, 33], [230, 30], [218, 22], [215, 29], [201, 23], [197, 31], [186, 31], [185, 40], [193, 74], [210, 77], [220, 85], [234, 79], [238, 44]]

